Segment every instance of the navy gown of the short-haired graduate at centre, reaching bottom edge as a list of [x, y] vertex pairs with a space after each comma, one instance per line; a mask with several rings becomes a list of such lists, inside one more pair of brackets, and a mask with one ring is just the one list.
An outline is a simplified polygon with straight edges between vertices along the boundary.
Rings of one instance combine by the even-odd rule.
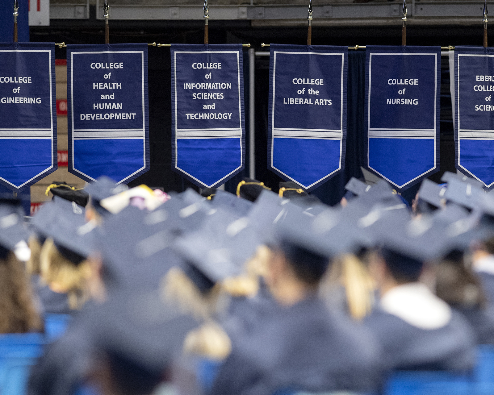
[[232, 340], [211, 393], [368, 391], [379, 382], [377, 356], [368, 331], [329, 312], [314, 296], [273, 309], [251, 333]]

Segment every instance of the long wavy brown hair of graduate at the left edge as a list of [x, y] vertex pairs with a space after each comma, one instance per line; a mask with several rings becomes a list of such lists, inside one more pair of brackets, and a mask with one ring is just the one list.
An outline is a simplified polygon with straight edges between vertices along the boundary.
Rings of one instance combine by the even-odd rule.
[[42, 328], [24, 265], [9, 252], [5, 259], [0, 259], [0, 333], [24, 333]]

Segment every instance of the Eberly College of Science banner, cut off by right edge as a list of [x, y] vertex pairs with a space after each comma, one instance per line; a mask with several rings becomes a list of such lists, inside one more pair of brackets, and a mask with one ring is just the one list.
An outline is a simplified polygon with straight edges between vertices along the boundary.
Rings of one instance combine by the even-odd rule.
[[494, 188], [494, 48], [454, 48], [455, 167]]

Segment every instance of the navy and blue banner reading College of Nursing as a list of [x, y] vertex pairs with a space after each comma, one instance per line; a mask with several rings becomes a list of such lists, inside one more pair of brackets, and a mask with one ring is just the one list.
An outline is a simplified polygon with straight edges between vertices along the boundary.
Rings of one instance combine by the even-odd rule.
[[404, 191], [439, 171], [441, 48], [367, 46], [367, 166]]

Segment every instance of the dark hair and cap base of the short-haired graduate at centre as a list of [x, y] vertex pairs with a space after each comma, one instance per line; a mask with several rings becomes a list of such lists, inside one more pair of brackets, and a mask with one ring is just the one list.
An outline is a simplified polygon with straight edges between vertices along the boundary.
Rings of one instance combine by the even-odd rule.
[[280, 247], [300, 281], [310, 285], [319, 282], [328, 268], [328, 258], [286, 240], [281, 242]]

